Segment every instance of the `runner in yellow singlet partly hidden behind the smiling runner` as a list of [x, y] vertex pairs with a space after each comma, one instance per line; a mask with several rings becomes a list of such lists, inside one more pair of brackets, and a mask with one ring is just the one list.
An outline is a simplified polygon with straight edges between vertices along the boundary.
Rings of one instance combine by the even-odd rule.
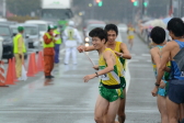
[[[105, 26], [105, 31], [107, 32], [107, 43], [106, 43], [106, 47], [111, 48], [112, 51], [114, 51], [116, 53], [116, 55], [119, 57], [119, 60], [122, 62], [124, 69], [122, 69], [124, 71], [124, 76], [125, 76], [125, 70], [126, 70], [126, 59], [130, 59], [131, 56], [129, 54], [129, 51], [127, 49], [126, 44], [122, 43], [122, 42], [117, 42], [116, 37], [118, 35], [118, 30], [117, 26], [115, 24], [107, 24]], [[90, 52], [90, 51], [95, 51], [94, 46], [78, 46], [78, 51], [80, 53], [83, 52], [83, 49], [85, 52]], [[118, 110], [118, 121], [119, 123], [124, 123], [125, 122], [125, 102], [126, 102], [126, 80], [125, 77], [122, 76], [120, 77], [120, 85], [124, 88], [124, 99], [120, 100], [120, 107]]]

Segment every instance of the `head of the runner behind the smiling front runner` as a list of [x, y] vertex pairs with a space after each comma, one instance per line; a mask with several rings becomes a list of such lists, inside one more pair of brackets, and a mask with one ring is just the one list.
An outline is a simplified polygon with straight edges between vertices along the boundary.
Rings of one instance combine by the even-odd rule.
[[118, 29], [115, 24], [107, 24], [105, 26], [105, 31], [107, 32], [107, 40], [108, 43], [113, 43], [116, 41], [116, 37], [118, 35]]

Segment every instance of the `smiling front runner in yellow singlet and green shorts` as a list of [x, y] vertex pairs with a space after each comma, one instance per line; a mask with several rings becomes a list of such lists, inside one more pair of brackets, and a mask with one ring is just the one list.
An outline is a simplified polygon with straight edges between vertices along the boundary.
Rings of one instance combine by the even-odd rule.
[[92, 37], [92, 44], [99, 52], [99, 66], [93, 68], [99, 70], [95, 74], [84, 77], [84, 82], [95, 77], [101, 77], [100, 96], [95, 105], [95, 122], [103, 123], [104, 115], [105, 123], [114, 123], [120, 98], [123, 98], [123, 89], [120, 88], [118, 59], [111, 48], [106, 48], [107, 34], [103, 29], [94, 29], [89, 34]]

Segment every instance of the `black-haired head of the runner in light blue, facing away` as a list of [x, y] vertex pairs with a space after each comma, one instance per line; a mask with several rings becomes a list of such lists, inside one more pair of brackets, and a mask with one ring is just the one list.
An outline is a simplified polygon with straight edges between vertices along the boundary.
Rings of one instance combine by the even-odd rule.
[[162, 27], [156, 26], [152, 29], [150, 37], [156, 45], [162, 44], [165, 41], [165, 31]]

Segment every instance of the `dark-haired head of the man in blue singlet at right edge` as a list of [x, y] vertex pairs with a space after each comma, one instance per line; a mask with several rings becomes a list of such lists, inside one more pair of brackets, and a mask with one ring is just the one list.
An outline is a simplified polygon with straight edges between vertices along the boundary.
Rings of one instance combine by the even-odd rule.
[[180, 18], [173, 18], [169, 21], [168, 27], [170, 36], [174, 40], [175, 37], [182, 37], [184, 35], [184, 23]]

